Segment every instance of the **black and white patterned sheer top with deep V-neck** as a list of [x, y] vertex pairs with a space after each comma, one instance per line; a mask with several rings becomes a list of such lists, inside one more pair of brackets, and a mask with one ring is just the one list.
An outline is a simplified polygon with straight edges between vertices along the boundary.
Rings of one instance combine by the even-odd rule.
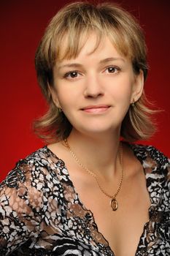
[[[152, 146], [130, 146], [143, 165], [151, 200], [136, 256], [168, 256], [169, 159]], [[20, 160], [0, 185], [0, 255], [114, 255], [64, 162], [47, 146]]]

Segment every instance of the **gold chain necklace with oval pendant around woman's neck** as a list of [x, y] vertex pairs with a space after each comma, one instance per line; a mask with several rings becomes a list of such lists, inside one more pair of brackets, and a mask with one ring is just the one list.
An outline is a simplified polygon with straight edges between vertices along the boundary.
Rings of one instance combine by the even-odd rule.
[[85, 167], [84, 165], [82, 165], [82, 162], [80, 161], [80, 159], [77, 158], [77, 156], [74, 154], [74, 152], [72, 151], [71, 147], [69, 146], [68, 140], [65, 139], [64, 143], [66, 145], [66, 148], [69, 149], [69, 153], [72, 155], [72, 157], [76, 160], [76, 162], [82, 167], [82, 169], [84, 169], [88, 174], [90, 174], [91, 176], [93, 176], [93, 178], [95, 178], [99, 189], [101, 189], [101, 192], [104, 193], [104, 195], [107, 195], [107, 197], [111, 198], [110, 200], [110, 206], [112, 208], [112, 211], [116, 211], [118, 208], [118, 203], [116, 200], [116, 197], [118, 195], [118, 193], [120, 192], [120, 189], [122, 187], [122, 183], [123, 183], [123, 146], [120, 143], [120, 157], [119, 157], [119, 161], [120, 161], [120, 166], [121, 166], [121, 179], [120, 179], [120, 184], [119, 187], [117, 189], [117, 192], [115, 193], [115, 195], [109, 195], [104, 188], [101, 186], [101, 182], [98, 179], [98, 176], [96, 176], [95, 173], [93, 173], [91, 170], [88, 170], [87, 167]]

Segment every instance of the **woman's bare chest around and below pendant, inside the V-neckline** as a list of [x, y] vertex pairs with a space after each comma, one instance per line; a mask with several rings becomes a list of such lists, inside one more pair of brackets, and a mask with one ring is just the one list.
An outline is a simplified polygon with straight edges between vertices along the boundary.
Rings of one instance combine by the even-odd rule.
[[85, 208], [93, 213], [98, 232], [109, 242], [116, 256], [134, 256], [144, 224], [148, 221], [150, 197], [145, 181], [131, 182], [123, 186], [117, 195], [118, 208], [112, 211], [110, 198], [97, 184], [77, 184], [77, 192]]

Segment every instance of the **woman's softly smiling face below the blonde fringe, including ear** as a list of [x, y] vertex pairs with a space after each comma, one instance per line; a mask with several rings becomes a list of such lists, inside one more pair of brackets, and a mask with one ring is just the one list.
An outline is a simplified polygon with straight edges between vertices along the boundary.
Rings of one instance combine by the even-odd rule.
[[76, 59], [56, 63], [51, 89], [73, 129], [83, 133], [119, 130], [129, 105], [142, 94], [143, 74], [134, 75], [131, 61], [106, 37], [98, 48], [95, 35]]

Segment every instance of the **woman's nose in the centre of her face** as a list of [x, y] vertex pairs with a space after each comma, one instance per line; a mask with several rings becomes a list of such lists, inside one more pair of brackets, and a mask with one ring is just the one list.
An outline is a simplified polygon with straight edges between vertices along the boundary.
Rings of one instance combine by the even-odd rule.
[[104, 95], [101, 81], [96, 77], [96, 75], [90, 75], [86, 78], [84, 95], [87, 98], [97, 98]]

